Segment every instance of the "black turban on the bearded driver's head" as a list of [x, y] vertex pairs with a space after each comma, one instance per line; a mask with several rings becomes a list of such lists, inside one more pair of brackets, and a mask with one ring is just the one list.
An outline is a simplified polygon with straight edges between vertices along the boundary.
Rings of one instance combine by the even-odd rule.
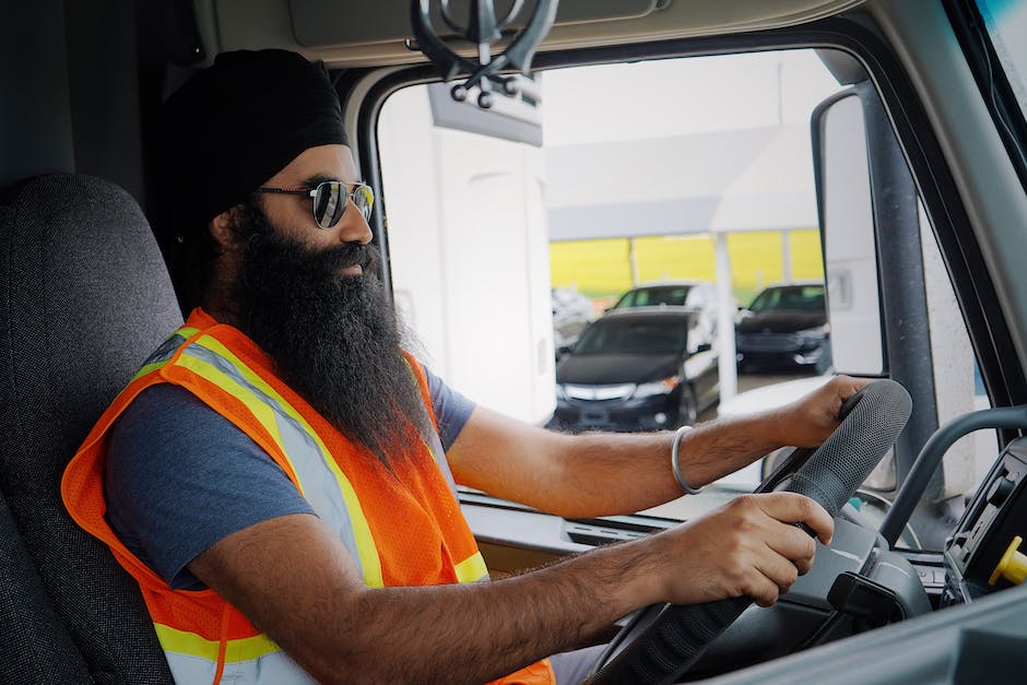
[[[165, 229], [190, 239], [304, 150], [346, 144], [339, 97], [320, 64], [286, 50], [239, 50], [164, 107]], [[163, 175], [162, 174], [162, 175]]]

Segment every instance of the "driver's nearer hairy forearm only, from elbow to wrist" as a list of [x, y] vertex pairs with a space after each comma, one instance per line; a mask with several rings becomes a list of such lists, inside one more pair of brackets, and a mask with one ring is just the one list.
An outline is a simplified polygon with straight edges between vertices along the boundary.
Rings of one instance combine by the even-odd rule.
[[492, 583], [337, 595], [335, 606], [310, 607], [320, 613], [316, 630], [278, 639], [324, 683], [483, 683], [656, 601], [647, 586], [654, 572], [639, 547], [618, 545]]

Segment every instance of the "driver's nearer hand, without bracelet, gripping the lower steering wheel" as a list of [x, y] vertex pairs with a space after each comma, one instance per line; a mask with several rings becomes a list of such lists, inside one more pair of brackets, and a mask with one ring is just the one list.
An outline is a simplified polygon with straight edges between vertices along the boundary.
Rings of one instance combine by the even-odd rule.
[[747, 595], [760, 606], [774, 604], [795, 579], [810, 570], [813, 538], [824, 544], [835, 522], [814, 500], [795, 493], [743, 495], [727, 505], [654, 535], [650, 560], [657, 601], [699, 604]]

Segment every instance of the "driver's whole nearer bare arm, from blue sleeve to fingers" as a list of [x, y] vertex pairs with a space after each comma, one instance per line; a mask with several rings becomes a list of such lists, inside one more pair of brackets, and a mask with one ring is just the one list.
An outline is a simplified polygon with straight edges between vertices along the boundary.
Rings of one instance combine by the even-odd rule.
[[813, 560], [792, 522], [830, 535], [815, 503], [776, 493], [495, 583], [369, 589], [327, 525], [290, 515], [232, 533], [189, 569], [321, 682], [481, 683], [652, 603], [772, 603]]

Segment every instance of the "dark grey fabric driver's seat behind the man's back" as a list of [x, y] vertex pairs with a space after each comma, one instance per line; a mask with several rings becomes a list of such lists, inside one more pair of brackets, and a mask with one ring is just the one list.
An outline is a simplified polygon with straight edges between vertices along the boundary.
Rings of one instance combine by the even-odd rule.
[[0, 601], [0, 683], [170, 683], [135, 582], [59, 493], [93, 423], [181, 323], [170, 280], [138, 204], [111, 184], [38, 177], [4, 205], [0, 554], [15, 556], [0, 579], [15, 574], [26, 599]]

